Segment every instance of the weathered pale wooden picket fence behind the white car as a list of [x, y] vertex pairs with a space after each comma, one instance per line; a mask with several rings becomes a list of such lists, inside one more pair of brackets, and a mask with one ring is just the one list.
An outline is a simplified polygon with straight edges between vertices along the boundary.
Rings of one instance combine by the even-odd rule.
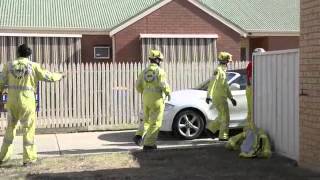
[[[216, 63], [164, 63], [173, 90], [196, 87], [210, 78]], [[247, 62], [234, 62], [229, 69], [243, 69]], [[135, 80], [146, 66], [142, 63], [89, 63], [43, 65], [64, 72], [56, 83], [39, 83], [40, 110], [37, 128], [81, 128], [103, 130], [136, 124], [141, 96]], [[6, 127], [6, 113], [0, 113], [0, 130]]]

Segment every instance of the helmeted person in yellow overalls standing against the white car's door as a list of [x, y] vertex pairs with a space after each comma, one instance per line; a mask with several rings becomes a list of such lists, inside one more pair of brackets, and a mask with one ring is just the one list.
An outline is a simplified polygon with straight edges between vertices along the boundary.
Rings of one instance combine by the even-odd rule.
[[207, 125], [207, 134], [214, 138], [214, 133], [219, 130], [219, 140], [226, 141], [229, 138], [229, 107], [227, 99], [230, 99], [233, 106], [237, 101], [233, 99], [227, 82], [227, 64], [232, 61], [232, 55], [228, 52], [220, 52], [218, 55], [219, 65], [214, 71], [215, 78], [209, 83], [207, 104], [213, 102], [218, 111], [218, 116]]

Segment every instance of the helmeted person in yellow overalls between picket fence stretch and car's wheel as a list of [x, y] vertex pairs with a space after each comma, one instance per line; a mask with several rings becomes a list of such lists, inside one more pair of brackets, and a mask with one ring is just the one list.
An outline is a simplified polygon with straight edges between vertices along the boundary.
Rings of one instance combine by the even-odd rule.
[[162, 125], [164, 101], [166, 97], [170, 100], [171, 93], [166, 73], [160, 68], [163, 54], [151, 50], [149, 60], [150, 65], [140, 73], [136, 82], [137, 91], [142, 93], [144, 117], [143, 128], [137, 131], [134, 141], [137, 145], [143, 143], [143, 150], [157, 149], [156, 140]]

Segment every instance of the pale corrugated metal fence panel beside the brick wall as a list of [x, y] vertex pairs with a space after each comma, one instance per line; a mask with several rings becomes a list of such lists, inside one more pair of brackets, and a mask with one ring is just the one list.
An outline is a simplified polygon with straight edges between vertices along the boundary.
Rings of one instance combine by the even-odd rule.
[[254, 119], [275, 151], [299, 157], [299, 51], [267, 52], [254, 61]]

